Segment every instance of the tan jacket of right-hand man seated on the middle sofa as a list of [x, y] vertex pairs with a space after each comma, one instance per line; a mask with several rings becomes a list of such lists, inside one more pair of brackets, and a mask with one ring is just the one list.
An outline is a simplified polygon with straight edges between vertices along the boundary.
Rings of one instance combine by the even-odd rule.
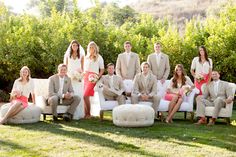
[[157, 95], [157, 80], [152, 73], [148, 74], [146, 83], [142, 73], [139, 73], [135, 76], [132, 95], [140, 94], [146, 94], [151, 97]]

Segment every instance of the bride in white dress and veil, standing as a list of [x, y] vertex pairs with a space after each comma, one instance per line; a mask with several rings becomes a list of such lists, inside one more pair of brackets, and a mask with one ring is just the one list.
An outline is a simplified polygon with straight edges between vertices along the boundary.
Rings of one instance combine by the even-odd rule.
[[[71, 78], [74, 94], [80, 97], [83, 96], [82, 73], [84, 65], [84, 49], [78, 41], [72, 40], [65, 55], [64, 64], [67, 65], [67, 75]], [[79, 92], [81, 91], [81, 92]], [[83, 104], [83, 103], [81, 103]], [[75, 119], [84, 117], [83, 105], [79, 105], [75, 112]]]

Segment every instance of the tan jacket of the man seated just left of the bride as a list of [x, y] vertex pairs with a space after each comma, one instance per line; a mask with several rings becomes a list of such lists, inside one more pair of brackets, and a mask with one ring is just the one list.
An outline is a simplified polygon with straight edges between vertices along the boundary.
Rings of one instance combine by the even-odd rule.
[[[58, 74], [55, 74], [55, 75], [49, 77], [49, 88], [48, 88], [49, 97], [58, 96], [59, 98], [62, 98], [62, 95], [58, 94], [59, 86], [60, 86], [60, 83], [59, 83], [59, 75]], [[72, 88], [71, 79], [68, 76], [65, 76], [62, 94], [65, 94], [67, 92], [73, 94], [74, 90]]]

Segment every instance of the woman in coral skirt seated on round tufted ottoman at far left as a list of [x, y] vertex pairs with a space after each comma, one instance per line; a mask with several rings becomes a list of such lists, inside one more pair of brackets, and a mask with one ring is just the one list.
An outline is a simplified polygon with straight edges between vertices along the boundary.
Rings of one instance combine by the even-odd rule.
[[7, 113], [0, 119], [0, 125], [7, 123], [8, 119], [17, 115], [28, 106], [29, 95], [32, 95], [32, 101], [35, 103], [34, 84], [30, 78], [30, 70], [24, 66], [20, 70], [20, 78], [15, 80], [11, 91], [11, 107]]

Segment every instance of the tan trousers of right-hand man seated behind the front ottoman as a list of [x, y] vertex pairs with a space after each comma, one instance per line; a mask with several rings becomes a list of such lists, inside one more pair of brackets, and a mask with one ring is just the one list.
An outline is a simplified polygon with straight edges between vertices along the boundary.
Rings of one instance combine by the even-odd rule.
[[[138, 102], [141, 101], [140, 97], [138, 95], [131, 95], [131, 103], [132, 104], [138, 104]], [[161, 98], [157, 95], [154, 95], [153, 97], [149, 98], [149, 100], [147, 100], [147, 102], [152, 102], [152, 108], [155, 111], [155, 115], [157, 114], [157, 110], [159, 108], [159, 104], [160, 104]]]

